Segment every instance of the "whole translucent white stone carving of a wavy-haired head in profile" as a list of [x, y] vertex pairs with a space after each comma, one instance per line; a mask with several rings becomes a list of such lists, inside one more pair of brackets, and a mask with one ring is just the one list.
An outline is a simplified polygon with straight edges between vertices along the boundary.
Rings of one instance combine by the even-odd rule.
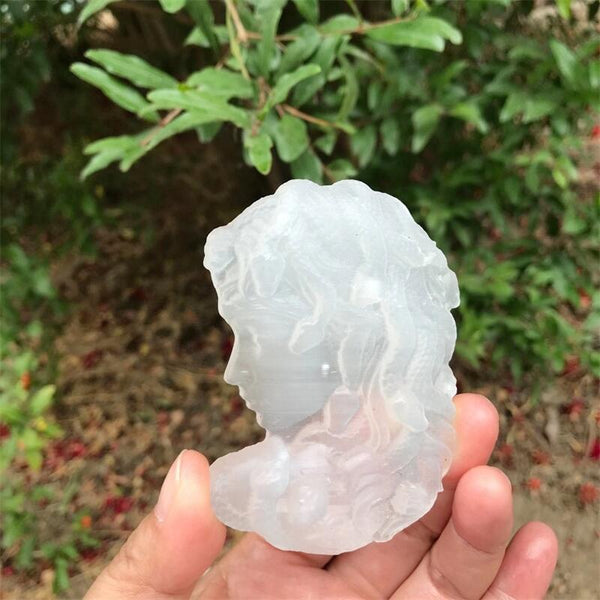
[[451, 458], [459, 296], [408, 209], [289, 181], [212, 231], [204, 264], [235, 335], [225, 380], [266, 430], [211, 466], [216, 515], [320, 554], [423, 516]]

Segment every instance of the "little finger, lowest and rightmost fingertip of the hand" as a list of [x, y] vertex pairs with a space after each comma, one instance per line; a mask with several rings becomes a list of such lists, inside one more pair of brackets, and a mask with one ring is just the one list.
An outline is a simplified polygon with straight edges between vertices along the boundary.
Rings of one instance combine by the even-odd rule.
[[548, 525], [524, 525], [510, 543], [483, 600], [541, 600], [550, 585], [557, 557], [558, 542]]

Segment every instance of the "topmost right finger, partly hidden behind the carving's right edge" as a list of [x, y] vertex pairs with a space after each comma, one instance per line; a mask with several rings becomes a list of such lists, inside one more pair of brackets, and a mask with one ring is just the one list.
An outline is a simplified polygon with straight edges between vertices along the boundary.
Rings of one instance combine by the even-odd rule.
[[328, 571], [345, 578], [360, 592], [384, 597], [392, 594], [446, 525], [461, 476], [472, 467], [487, 463], [490, 457], [498, 437], [498, 413], [493, 404], [478, 394], [459, 394], [454, 403], [457, 445], [444, 478], [444, 491], [431, 511], [389, 542], [342, 554], [327, 566]]

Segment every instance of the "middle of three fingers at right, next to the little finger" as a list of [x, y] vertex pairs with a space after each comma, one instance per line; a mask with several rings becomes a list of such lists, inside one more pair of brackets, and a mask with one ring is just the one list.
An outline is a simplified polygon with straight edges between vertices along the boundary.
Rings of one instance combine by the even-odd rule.
[[506, 475], [493, 467], [471, 469], [458, 484], [442, 535], [393, 600], [481, 598], [502, 563], [512, 524]]

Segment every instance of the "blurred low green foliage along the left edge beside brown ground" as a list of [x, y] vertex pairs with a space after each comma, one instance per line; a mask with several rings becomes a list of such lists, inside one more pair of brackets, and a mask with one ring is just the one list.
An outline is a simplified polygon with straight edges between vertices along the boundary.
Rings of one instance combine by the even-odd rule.
[[[48, 383], [55, 376], [51, 340], [65, 309], [50, 259], [72, 246], [92, 251], [94, 230], [103, 222], [96, 197], [102, 188], [96, 186], [94, 194], [81, 183], [80, 167], [80, 148], [71, 146], [59, 160], [2, 167], [0, 548], [2, 562], [8, 559], [20, 572], [37, 571], [42, 561], [51, 565], [57, 594], [69, 586], [68, 572], [81, 560], [80, 551], [97, 545], [83, 513], [71, 514], [66, 491], [48, 483], [42, 468], [49, 447], [65, 435], [53, 417], [56, 388]], [[24, 247], [23, 234], [39, 234], [42, 225], [45, 241], [34, 251]], [[49, 528], [39, 518], [40, 503], [52, 506], [57, 526], [68, 527], [59, 533]]]

